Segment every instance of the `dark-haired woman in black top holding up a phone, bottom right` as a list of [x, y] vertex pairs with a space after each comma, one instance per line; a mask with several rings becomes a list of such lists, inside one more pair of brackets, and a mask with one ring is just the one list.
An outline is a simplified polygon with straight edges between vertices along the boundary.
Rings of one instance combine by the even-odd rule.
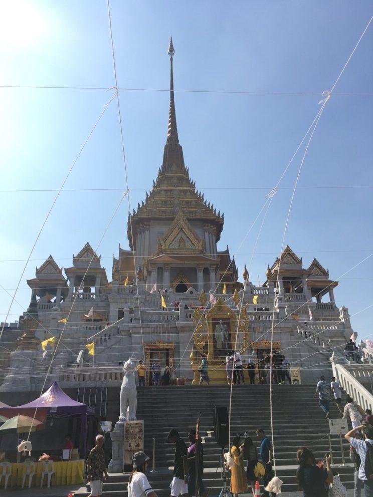
[[330, 454], [326, 457], [326, 471], [316, 465], [315, 456], [307, 447], [298, 449], [297, 457], [299, 462], [298, 489], [303, 490], [304, 497], [327, 497], [326, 485], [333, 482]]

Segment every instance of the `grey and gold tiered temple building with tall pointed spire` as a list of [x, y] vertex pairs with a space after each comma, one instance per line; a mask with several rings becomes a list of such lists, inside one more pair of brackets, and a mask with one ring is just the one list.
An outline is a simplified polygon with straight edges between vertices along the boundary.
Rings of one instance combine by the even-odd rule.
[[[316, 259], [304, 267], [286, 246], [268, 265], [264, 284], [256, 286], [246, 266], [239, 281], [228, 247], [218, 250], [224, 215], [196, 188], [179, 144], [172, 40], [168, 54], [163, 162], [151, 190], [128, 217], [129, 250], [119, 246], [108, 277], [87, 242], [77, 247], [71, 267], [59, 268], [49, 256], [27, 282], [35, 312], [32, 322], [25, 313], [27, 336], [12, 355], [14, 365], [27, 358], [31, 390], [40, 388], [41, 371], [51, 361], [51, 380], [63, 387], [115, 384], [130, 355], [145, 360], [146, 384], [152, 383], [154, 360], [162, 370], [170, 366], [176, 376], [198, 383], [202, 355], [212, 384], [225, 384], [230, 349], [241, 351], [244, 367], [253, 360], [256, 382], [264, 381], [271, 350], [289, 360], [294, 381], [310, 382], [321, 374], [313, 366], [328, 360], [330, 349], [343, 347], [353, 332], [348, 310], [335, 303], [338, 283]], [[92, 343], [89, 355], [86, 345]], [[23, 388], [17, 370], [10, 365], [0, 391]]]

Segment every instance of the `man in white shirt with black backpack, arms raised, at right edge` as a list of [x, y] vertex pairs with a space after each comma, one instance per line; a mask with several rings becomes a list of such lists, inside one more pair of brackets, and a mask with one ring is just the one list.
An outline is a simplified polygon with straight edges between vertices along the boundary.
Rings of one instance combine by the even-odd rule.
[[[355, 433], [363, 430], [364, 440], [354, 438]], [[360, 456], [359, 479], [364, 483], [365, 497], [373, 497], [373, 426], [360, 424], [344, 435]]]

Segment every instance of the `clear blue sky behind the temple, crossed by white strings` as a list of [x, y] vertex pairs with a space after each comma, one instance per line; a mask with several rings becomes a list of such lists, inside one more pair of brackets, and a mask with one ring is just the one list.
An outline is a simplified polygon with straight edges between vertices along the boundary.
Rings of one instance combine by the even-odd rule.
[[[169, 94], [169, 35], [180, 144], [196, 186], [225, 214], [240, 275], [263, 283], [281, 250], [301, 152], [265, 218], [248, 233], [373, 14], [371, 2], [111, 0], [131, 207], [161, 164]], [[0, 2], [0, 284], [13, 295], [40, 227], [114, 86], [104, 0]], [[373, 24], [339, 80], [311, 142], [285, 237], [305, 267], [314, 257], [339, 280], [359, 337], [370, 336]], [[104, 90], [9, 88], [99, 87]], [[181, 91], [190, 90], [190, 91]], [[198, 90], [198, 91], [191, 91]], [[203, 91], [203, 92], [202, 92]], [[247, 93], [232, 93], [247, 92]], [[69, 267], [96, 248], [126, 189], [113, 101], [78, 159], [36, 244], [8, 321], [27, 308], [35, 276], [52, 254]], [[22, 190], [22, 191], [15, 191]], [[26, 191], [39, 190], [39, 191]], [[110, 279], [128, 247], [123, 202], [97, 252]], [[353, 266], [355, 269], [349, 271]], [[347, 274], [345, 274], [348, 272]], [[341, 277], [341, 275], [344, 275]], [[0, 320], [11, 297], [0, 288]]]

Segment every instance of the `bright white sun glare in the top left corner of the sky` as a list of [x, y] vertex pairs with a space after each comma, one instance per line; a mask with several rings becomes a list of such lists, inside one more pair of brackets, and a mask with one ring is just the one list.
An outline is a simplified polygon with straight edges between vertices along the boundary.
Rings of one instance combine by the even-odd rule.
[[27, 48], [46, 34], [42, 12], [24, 0], [0, 0], [0, 48]]

